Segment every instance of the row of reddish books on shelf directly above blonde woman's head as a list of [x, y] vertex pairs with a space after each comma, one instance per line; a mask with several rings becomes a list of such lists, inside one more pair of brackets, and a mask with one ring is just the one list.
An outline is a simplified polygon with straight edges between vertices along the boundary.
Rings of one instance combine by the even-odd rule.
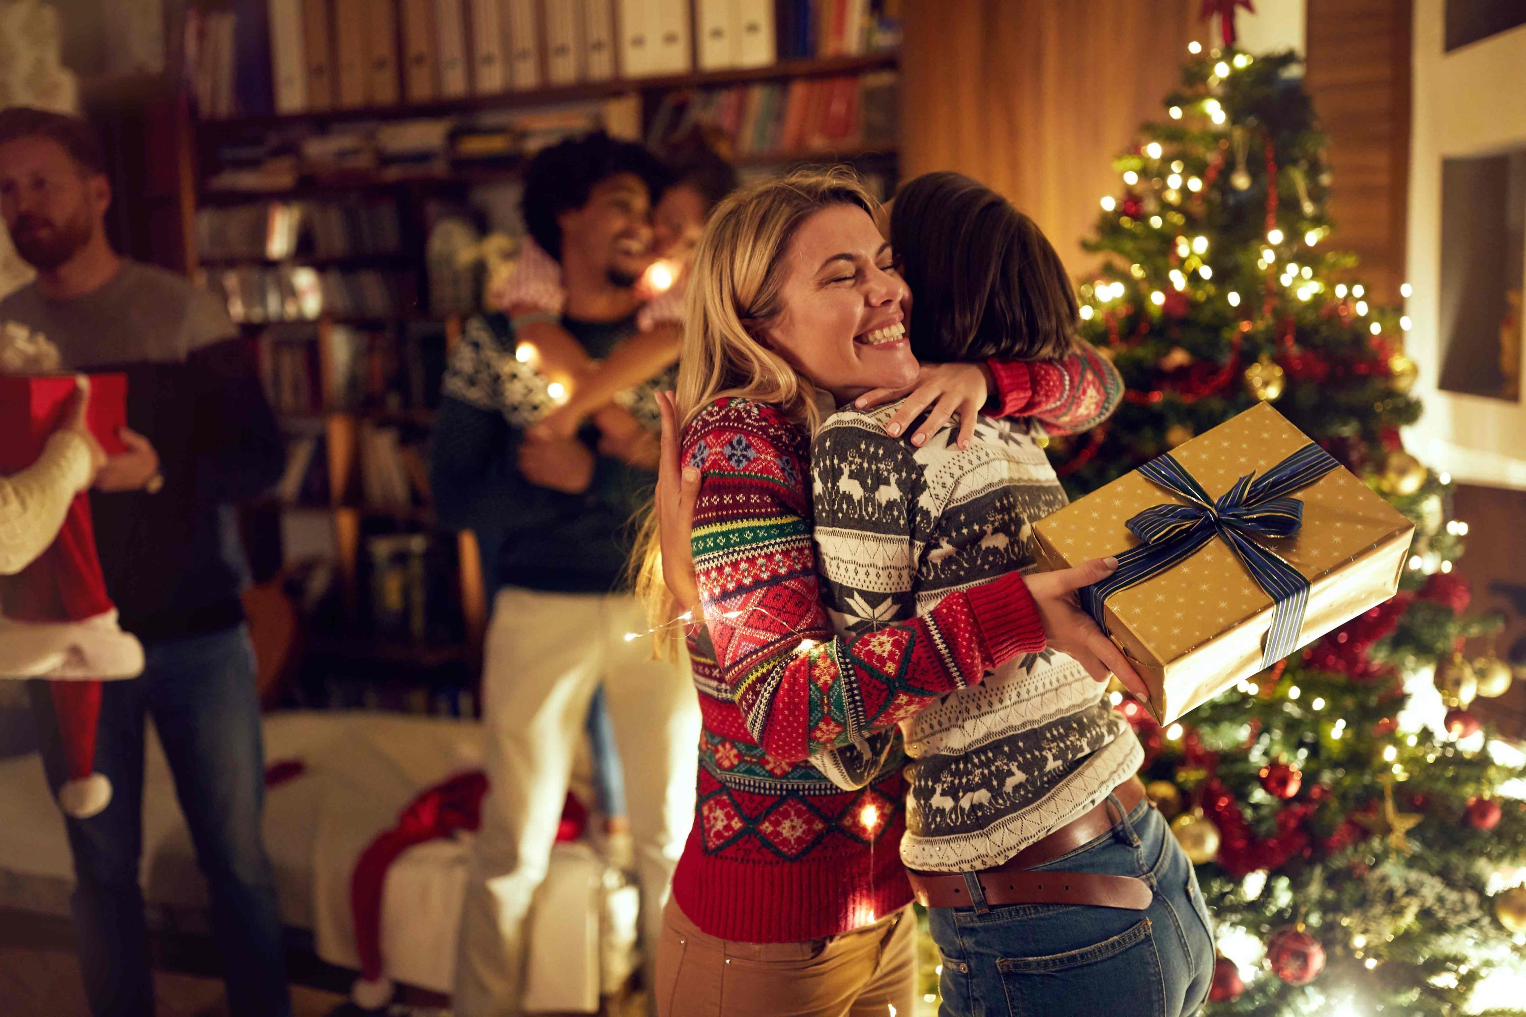
[[894, 146], [896, 72], [797, 78], [694, 93], [670, 93], [652, 120], [649, 145], [694, 127], [731, 139], [736, 156]]

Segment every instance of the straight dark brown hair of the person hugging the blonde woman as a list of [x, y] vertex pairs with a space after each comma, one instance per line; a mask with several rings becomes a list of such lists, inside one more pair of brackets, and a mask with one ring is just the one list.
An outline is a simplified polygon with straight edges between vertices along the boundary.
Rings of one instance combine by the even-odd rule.
[[1058, 360], [1076, 337], [1076, 291], [1054, 245], [1012, 203], [957, 172], [929, 172], [890, 209], [911, 288], [919, 360]]

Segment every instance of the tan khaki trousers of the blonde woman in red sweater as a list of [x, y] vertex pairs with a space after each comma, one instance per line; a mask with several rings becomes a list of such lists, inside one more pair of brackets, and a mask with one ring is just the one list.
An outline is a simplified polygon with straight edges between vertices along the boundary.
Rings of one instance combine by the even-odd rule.
[[911, 1017], [917, 922], [902, 907], [807, 942], [734, 942], [668, 900], [658, 945], [658, 1017]]

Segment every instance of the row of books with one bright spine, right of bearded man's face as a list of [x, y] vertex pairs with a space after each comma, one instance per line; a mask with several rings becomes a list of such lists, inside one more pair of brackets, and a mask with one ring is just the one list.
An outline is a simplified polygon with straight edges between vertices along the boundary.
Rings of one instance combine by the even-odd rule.
[[403, 250], [395, 201], [266, 201], [197, 210], [197, 250], [218, 261], [386, 256]]

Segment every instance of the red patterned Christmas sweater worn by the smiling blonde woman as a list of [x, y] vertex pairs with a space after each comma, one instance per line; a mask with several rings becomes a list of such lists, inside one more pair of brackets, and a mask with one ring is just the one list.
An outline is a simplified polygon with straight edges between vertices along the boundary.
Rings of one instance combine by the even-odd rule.
[[836, 637], [818, 590], [807, 451], [777, 409], [736, 398], [705, 407], [684, 436], [703, 476], [693, 550], [705, 625], [688, 650], [705, 729], [673, 895], [710, 935], [745, 942], [830, 936], [911, 901], [900, 772], [842, 791], [812, 753], [1044, 648], [1018, 575]]

